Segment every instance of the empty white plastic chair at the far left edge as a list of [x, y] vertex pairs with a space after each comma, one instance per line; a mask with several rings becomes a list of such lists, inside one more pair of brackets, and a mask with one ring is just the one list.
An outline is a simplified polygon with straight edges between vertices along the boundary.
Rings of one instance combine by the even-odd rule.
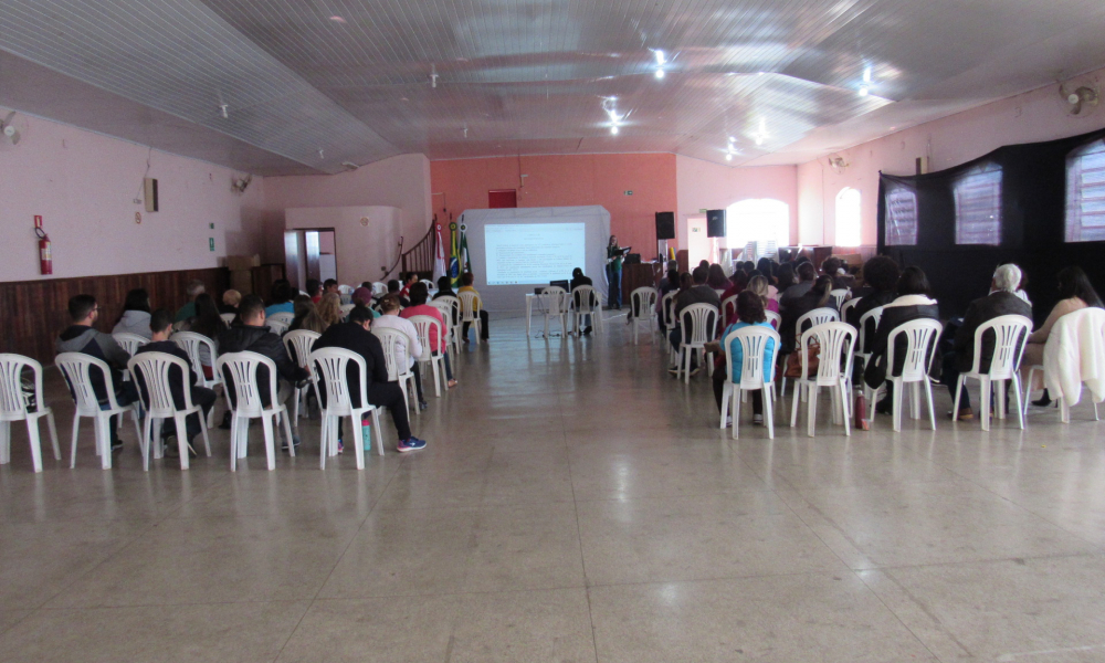
[[[34, 411], [23, 394], [23, 369], [31, 370], [34, 385]], [[54, 460], [62, 460], [57, 444], [54, 412], [45, 407], [42, 393], [42, 365], [22, 355], [0, 354], [0, 465], [11, 462], [11, 422], [27, 421], [27, 436], [31, 443], [31, 462], [35, 472], [42, 472], [42, 443], [39, 439], [39, 419], [46, 418], [50, 441], [54, 445]]]

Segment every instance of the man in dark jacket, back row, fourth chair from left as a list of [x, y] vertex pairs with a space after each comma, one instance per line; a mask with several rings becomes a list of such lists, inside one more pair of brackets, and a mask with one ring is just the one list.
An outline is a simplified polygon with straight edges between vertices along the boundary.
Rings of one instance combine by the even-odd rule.
[[[242, 297], [242, 303], [238, 307], [240, 325], [234, 325], [219, 335], [218, 344], [220, 352], [256, 352], [273, 360], [276, 365], [276, 376], [269, 375], [267, 367], [257, 368], [257, 393], [261, 396], [261, 403], [265, 408], [272, 407], [270, 394], [270, 379], [276, 379], [276, 400], [280, 403], [287, 401], [292, 394], [293, 386], [296, 382], [306, 380], [309, 377], [307, 370], [302, 366], [296, 366], [287, 354], [287, 349], [276, 336], [265, 326], [265, 305], [261, 297], [246, 295]], [[230, 394], [231, 407], [236, 407], [238, 394], [234, 390], [234, 381], [229, 373], [223, 375], [227, 382], [227, 391]], [[283, 430], [283, 427], [277, 427]], [[298, 444], [298, 436], [292, 436], [294, 444]], [[285, 443], [287, 441], [285, 440]], [[286, 448], [286, 446], [285, 446]]]

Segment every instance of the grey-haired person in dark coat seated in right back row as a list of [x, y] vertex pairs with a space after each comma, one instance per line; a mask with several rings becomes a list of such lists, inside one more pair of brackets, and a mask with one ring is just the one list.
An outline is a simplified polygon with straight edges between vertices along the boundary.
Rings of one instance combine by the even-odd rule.
[[[993, 280], [990, 282], [990, 294], [975, 299], [967, 307], [962, 325], [956, 332], [954, 349], [945, 354], [943, 358], [944, 372], [940, 376], [940, 381], [947, 385], [948, 391], [951, 392], [951, 402], [955, 402], [959, 373], [967, 372], [975, 366], [975, 333], [982, 323], [1002, 315], [1023, 315], [1032, 319], [1032, 307], [1017, 296], [1020, 283], [1020, 267], [1013, 264], [1001, 265], [993, 273]], [[990, 360], [993, 358], [993, 341], [994, 335], [992, 333], [982, 337], [982, 351], [979, 358], [979, 370], [982, 372], [990, 370]], [[962, 390], [962, 396], [959, 399], [959, 412], [953, 414], [960, 421], [975, 417], [966, 389]]]

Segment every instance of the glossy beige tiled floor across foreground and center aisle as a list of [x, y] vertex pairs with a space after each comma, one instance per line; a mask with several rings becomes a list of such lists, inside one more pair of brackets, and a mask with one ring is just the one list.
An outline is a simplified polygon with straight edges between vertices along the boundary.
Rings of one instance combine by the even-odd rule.
[[214, 457], [143, 473], [125, 431], [110, 472], [83, 436], [35, 475], [17, 427], [0, 660], [1105, 661], [1091, 409], [845, 438], [822, 408], [815, 439], [734, 441], [706, 379], [620, 322], [546, 343], [493, 320], [415, 422], [429, 449], [364, 472], [319, 471], [312, 420], [275, 472], [255, 445], [231, 474], [215, 431]]

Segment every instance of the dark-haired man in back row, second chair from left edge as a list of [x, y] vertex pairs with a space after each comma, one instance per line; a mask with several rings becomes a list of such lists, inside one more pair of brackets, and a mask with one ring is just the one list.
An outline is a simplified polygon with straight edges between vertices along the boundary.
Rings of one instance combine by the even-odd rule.
[[[130, 355], [109, 334], [97, 332], [93, 327], [99, 319], [99, 305], [96, 304], [96, 298], [92, 295], [76, 295], [69, 302], [69, 315], [72, 324], [57, 337], [57, 352], [82, 352], [107, 362], [110, 369], [108, 376], [101, 375], [95, 369], [88, 371], [92, 390], [99, 400], [99, 404], [105, 408], [107, 406], [108, 383], [120, 407], [129, 406], [138, 400], [138, 390], [135, 389], [134, 382], [123, 381], [123, 371], [127, 368]], [[123, 449], [123, 442], [119, 441], [122, 418], [122, 414], [113, 417], [110, 425], [108, 425], [112, 432], [112, 451]]]

